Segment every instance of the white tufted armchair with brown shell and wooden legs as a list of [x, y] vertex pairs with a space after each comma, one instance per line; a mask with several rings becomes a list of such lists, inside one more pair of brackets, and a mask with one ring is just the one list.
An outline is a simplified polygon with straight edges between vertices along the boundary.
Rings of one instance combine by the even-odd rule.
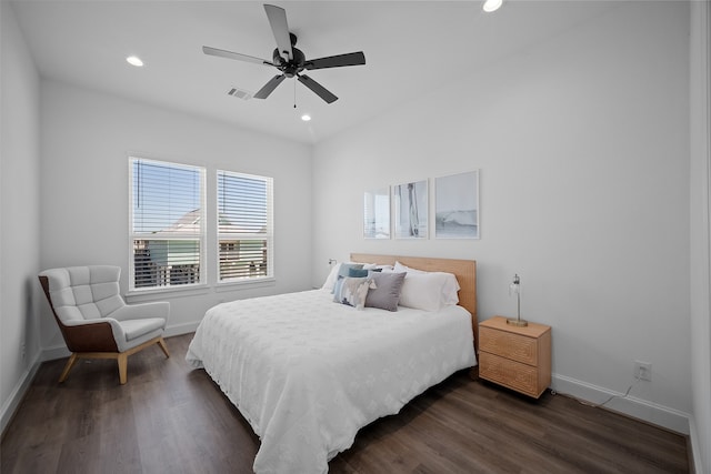
[[71, 266], [39, 274], [44, 294], [72, 352], [59, 382], [64, 382], [78, 359], [116, 359], [119, 381], [128, 380], [128, 356], [158, 344], [167, 357], [163, 330], [170, 303], [127, 305], [119, 294], [121, 268]]

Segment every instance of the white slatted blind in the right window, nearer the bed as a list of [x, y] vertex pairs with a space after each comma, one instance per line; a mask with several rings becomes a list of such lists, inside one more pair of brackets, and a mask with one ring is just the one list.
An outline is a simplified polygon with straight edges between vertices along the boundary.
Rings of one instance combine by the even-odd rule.
[[218, 171], [220, 282], [273, 276], [272, 181]]

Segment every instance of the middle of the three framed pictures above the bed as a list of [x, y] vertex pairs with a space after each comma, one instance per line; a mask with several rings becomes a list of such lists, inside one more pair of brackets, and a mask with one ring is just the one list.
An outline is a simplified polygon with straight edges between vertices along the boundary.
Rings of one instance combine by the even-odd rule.
[[392, 186], [395, 239], [428, 238], [428, 181], [411, 181]]

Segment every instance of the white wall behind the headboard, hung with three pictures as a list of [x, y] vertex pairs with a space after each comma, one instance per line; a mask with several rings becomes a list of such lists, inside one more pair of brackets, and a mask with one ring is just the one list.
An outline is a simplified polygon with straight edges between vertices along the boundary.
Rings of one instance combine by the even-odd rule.
[[[553, 327], [555, 386], [685, 432], [689, 4], [629, 2], [314, 150], [314, 283], [351, 251], [475, 259], [479, 317]], [[364, 241], [362, 193], [480, 169], [481, 240]], [[431, 215], [431, 213], [430, 213]]]

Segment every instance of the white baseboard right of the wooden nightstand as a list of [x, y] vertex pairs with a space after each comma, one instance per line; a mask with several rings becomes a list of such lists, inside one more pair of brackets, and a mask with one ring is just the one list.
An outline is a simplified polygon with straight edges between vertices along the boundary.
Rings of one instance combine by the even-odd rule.
[[604, 405], [605, 409], [675, 431], [677, 433], [689, 434], [691, 416], [679, 410], [630, 395], [624, 396], [623, 393], [612, 392], [564, 375], [553, 374], [551, 385], [551, 389], [560, 394], [571, 395], [592, 404], [602, 403], [614, 396]]

